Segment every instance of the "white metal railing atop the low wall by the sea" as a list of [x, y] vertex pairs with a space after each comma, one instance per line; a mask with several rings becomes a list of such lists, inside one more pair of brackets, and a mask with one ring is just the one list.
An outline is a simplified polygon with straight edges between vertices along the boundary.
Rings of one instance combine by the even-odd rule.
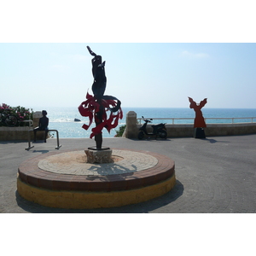
[[[144, 118], [144, 119], [172, 120], [172, 125], [174, 125], [175, 124], [175, 120], [192, 120], [191, 121], [191, 124], [192, 124], [195, 118]], [[255, 121], [256, 121], [256, 117], [247, 117], [247, 118], [205, 118], [205, 121], [206, 121], [207, 124], [223, 124], [223, 123], [220, 123], [220, 122], [208, 123], [207, 120], [209, 120], [209, 119], [212, 119], [212, 120], [219, 120], [219, 119], [231, 120], [231, 122], [230, 122], [231, 124], [240, 124], [239, 122], [235, 123], [236, 119], [250, 119], [251, 120], [249, 122], [243, 122], [243, 123], [255, 123]], [[253, 119], [255, 119], [255, 120], [253, 121]], [[139, 125], [141, 125], [142, 124], [142, 120], [143, 120], [143, 118], [137, 118], [137, 123], [139, 123]], [[180, 124], [182, 124], [182, 123], [179, 123], [179, 125]], [[186, 123], [183, 123], [183, 125], [185, 125], [185, 124]]]

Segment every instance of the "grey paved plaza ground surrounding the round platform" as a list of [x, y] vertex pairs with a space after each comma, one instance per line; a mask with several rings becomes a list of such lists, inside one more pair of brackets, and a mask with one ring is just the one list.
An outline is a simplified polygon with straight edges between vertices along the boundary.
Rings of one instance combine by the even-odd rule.
[[[89, 138], [38, 141], [29, 151], [26, 142], [0, 142], [0, 212], [25, 213], [203, 213], [256, 212], [256, 135], [169, 138], [143, 141], [104, 138], [103, 146], [149, 151], [175, 161], [177, 183], [170, 192], [150, 201], [125, 207], [70, 210], [43, 207], [20, 197], [16, 177], [20, 163], [49, 152], [84, 150], [94, 146]], [[46, 165], [45, 162], [42, 164]]]

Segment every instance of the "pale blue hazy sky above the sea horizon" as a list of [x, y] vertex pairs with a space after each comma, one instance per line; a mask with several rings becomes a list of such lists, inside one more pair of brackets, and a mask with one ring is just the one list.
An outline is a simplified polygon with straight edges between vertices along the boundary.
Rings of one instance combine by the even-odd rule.
[[0, 44], [1, 102], [79, 106], [93, 82], [86, 45], [106, 61], [123, 107], [256, 108], [256, 44]]

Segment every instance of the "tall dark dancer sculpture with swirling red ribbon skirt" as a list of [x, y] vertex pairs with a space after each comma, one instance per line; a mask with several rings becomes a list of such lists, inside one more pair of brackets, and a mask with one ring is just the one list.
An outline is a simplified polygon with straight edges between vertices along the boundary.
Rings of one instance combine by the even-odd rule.
[[[87, 49], [90, 55], [94, 58], [91, 60], [93, 84], [91, 90], [94, 96], [91, 96], [88, 92], [86, 95], [86, 101], [82, 102], [79, 106], [79, 113], [84, 117], [89, 117], [90, 124], [83, 125], [85, 130], [88, 130], [92, 123], [92, 119], [95, 119], [96, 127], [93, 128], [90, 134], [90, 138], [95, 137], [97, 150], [102, 149], [102, 129], [106, 128], [108, 132], [118, 125], [119, 119], [123, 118], [123, 112], [120, 108], [121, 102], [114, 96], [104, 96], [106, 90], [107, 78], [105, 75], [105, 61], [102, 62], [102, 56], [96, 55], [89, 46]], [[110, 111], [110, 114], [106, 111]], [[117, 113], [115, 113], [117, 112]]]

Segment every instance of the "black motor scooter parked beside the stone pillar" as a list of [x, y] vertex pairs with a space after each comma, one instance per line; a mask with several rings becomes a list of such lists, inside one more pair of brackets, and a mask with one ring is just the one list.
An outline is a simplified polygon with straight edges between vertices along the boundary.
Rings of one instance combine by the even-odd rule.
[[142, 140], [144, 135], [148, 135], [148, 136], [155, 136], [155, 139], [159, 136], [160, 138], [166, 139], [167, 137], [167, 131], [166, 131], [166, 124], [159, 124], [159, 125], [151, 125], [151, 127], [153, 128], [152, 132], [148, 132], [147, 131], [147, 125], [148, 123], [152, 123], [151, 122], [152, 119], [144, 119], [143, 117], [143, 121], [145, 122], [139, 129], [139, 133], [137, 135], [137, 138], [139, 140]]

